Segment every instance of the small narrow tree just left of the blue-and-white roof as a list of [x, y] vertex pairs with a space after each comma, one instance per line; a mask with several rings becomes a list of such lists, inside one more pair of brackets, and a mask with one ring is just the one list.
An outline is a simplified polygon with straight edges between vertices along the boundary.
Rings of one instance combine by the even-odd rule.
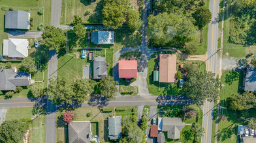
[[76, 37], [82, 39], [86, 36], [86, 29], [82, 25], [82, 18], [80, 16], [74, 15], [74, 21], [72, 21], [74, 25], [74, 33]]

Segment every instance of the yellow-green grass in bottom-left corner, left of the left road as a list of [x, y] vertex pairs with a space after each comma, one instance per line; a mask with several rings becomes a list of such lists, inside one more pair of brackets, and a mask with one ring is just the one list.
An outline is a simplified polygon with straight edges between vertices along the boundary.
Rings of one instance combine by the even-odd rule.
[[[31, 107], [11, 108], [7, 110], [5, 120], [14, 120], [32, 117]], [[29, 125], [29, 142], [46, 141], [46, 116], [40, 115]]]

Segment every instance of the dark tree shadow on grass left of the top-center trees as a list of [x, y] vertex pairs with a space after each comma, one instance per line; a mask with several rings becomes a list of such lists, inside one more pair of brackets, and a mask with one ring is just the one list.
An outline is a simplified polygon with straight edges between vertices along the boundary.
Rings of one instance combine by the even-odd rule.
[[[85, 0], [81, 0], [81, 1], [85, 1]], [[104, 6], [103, 0], [97, 3], [96, 8], [94, 10], [95, 13], [89, 16], [89, 19], [88, 19], [89, 23], [101, 23], [103, 21], [103, 13], [102, 13], [103, 6]]]

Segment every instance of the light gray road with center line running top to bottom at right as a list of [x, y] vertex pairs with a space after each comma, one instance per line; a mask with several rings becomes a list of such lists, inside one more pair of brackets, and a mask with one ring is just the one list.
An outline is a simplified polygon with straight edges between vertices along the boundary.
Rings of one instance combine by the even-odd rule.
[[[208, 45], [207, 45], [207, 58], [206, 70], [208, 72], [219, 71], [219, 58], [217, 57], [217, 39], [219, 38], [219, 0], [210, 0], [209, 9], [212, 12], [212, 21], [208, 24]], [[213, 118], [214, 103], [206, 101], [202, 108], [204, 113], [202, 120], [202, 127], [204, 127], [205, 133], [202, 136], [203, 143], [212, 142], [212, 118]]]

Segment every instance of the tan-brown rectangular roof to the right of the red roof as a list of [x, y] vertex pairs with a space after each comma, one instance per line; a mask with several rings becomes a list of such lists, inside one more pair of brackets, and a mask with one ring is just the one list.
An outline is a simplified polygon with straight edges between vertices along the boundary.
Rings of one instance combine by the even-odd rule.
[[176, 55], [160, 54], [159, 82], [174, 83], [176, 72]]

